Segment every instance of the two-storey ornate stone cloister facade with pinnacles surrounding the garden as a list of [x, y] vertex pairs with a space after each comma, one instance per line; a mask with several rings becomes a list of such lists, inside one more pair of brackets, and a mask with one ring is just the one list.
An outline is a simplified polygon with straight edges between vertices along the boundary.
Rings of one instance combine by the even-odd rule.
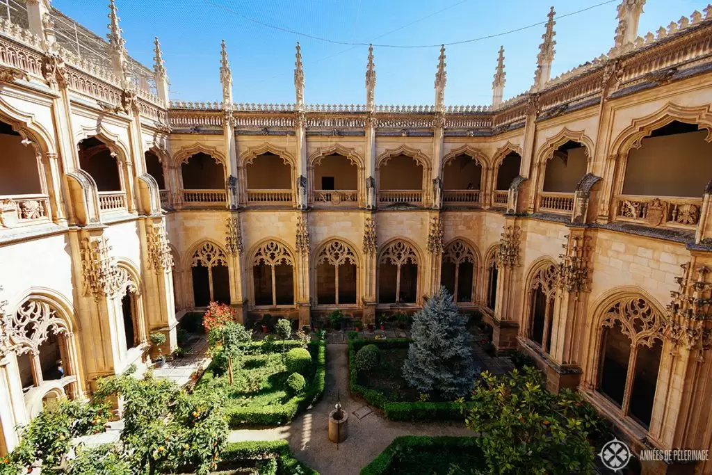
[[[0, 19], [0, 451], [43, 400], [147, 362], [209, 301], [309, 325], [411, 313], [444, 285], [551, 390], [577, 387], [634, 449], [712, 449], [712, 7], [491, 105], [171, 102], [155, 65], [48, 0]], [[68, 41], [79, 28], [82, 41]], [[99, 45], [99, 46], [97, 46]], [[100, 54], [96, 48], [103, 48]], [[103, 63], [102, 58], [110, 58]], [[56, 362], [62, 361], [63, 372]], [[712, 473], [644, 464], [649, 474]]]

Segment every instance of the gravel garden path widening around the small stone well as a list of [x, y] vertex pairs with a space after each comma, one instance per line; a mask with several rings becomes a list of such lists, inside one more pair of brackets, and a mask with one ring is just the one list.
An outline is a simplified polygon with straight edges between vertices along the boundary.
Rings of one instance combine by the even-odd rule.
[[[462, 423], [393, 422], [372, 412], [362, 419], [353, 414], [365, 406], [352, 400], [348, 387], [347, 345], [327, 345], [327, 374], [324, 396], [313, 408], [298, 416], [290, 425], [262, 430], [234, 430], [231, 442], [286, 439], [295, 456], [321, 475], [359, 474], [361, 469], [401, 435], [472, 436]], [[349, 437], [343, 444], [328, 439], [328, 414], [337, 400], [349, 413]]]

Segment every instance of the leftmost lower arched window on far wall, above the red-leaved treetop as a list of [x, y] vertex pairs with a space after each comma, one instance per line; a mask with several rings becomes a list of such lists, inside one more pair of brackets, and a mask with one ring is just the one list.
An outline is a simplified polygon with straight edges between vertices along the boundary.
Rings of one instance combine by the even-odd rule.
[[205, 241], [189, 255], [194, 306], [206, 307], [210, 302], [230, 303], [230, 273], [225, 251]]

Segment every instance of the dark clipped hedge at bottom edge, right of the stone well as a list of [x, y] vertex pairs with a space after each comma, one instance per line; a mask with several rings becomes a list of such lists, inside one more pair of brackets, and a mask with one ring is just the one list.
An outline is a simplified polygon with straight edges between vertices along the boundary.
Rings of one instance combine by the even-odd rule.
[[[404, 451], [434, 452], [442, 453], [451, 451], [455, 454], [479, 452], [480, 449], [475, 443], [476, 437], [425, 437], [407, 435], [396, 437], [393, 442], [384, 449], [373, 461], [361, 469], [361, 475], [382, 475], [398, 471], [399, 467], [394, 466], [397, 459], [394, 454], [402, 454]], [[453, 462], [458, 458], [454, 456]]]

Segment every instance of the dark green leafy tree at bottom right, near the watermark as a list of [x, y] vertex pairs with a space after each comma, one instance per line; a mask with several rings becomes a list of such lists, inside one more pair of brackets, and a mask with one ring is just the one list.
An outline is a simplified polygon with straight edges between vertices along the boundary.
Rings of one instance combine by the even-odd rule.
[[467, 427], [481, 435], [475, 443], [493, 474], [588, 473], [604, 422], [570, 390], [552, 394], [532, 367], [521, 374], [484, 372], [476, 385]]

